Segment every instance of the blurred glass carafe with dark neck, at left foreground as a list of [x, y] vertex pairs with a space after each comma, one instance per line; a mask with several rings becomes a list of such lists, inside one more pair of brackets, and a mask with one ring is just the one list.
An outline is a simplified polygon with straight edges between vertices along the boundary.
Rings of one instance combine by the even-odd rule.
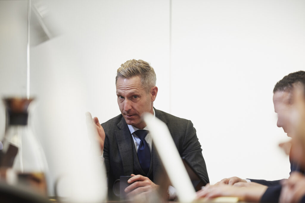
[[[29, 190], [47, 195], [45, 172], [48, 165], [45, 154], [34, 137], [28, 125], [28, 107], [33, 99], [5, 98], [7, 128], [0, 145], [0, 168], [5, 180]], [[15, 180], [12, 175], [7, 176], [3, 171], [11, 169], [16, 174]], [[6, 175], [5, 175], [6, 174]]]

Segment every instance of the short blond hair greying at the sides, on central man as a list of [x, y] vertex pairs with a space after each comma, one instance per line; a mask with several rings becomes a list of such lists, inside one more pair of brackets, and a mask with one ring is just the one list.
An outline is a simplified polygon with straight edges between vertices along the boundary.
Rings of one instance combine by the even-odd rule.
[[117, 85], [117, 79], [119, 78], [132, 78], [134, 76], [140, 76], [142, 87], [148, 92], [150, 88], [156, 86], [156, 73], [154, 69], [143, 60], [129, 60], [121, 65], [117, 69], [117, 77], [115, 79], [115, 84]]

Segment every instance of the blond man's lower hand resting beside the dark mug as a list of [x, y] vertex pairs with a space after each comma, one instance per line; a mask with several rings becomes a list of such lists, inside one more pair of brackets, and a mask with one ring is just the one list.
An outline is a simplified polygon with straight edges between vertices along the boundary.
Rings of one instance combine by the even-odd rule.
[[127, 182], [132, 183], [125, 188], [125, 192], [128, 193], [129, 197], [140, 194], [140, 193], [149, 193], [156, 191], [159, 185], [154, 184], [148, 177], [131, 174], [131, 177]]

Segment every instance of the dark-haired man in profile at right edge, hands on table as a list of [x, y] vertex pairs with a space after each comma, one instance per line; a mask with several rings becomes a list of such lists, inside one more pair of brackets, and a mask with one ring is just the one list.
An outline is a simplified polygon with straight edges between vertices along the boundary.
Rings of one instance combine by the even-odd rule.
[[[286, 75], [278, 81], [273, 89], [274, 111], [278, 114], [277, 126], [283, 128], [287, 136], [292, 137], [294, 132], [290, 117], [293, 114], [294, 104], [294, 86], [296, 84], [303, 85], [305, 93], [305, 72], [298, 71]], [[290, 157], [289, 157], [290, 158]], [[291, 172], [298, 171], [304, 174], [298, 163], [290, 160]], [[207, 186], [199, 191], [199, 196], [216, 197], [216, 196], [239, 196], [245, 201], [261, 201], [261, 202], [278, 202], [281, 193], [283, 180], [256, 180], [242, 179], [239, 177], [225, 178], [217, 182], [214, 186]], [[231, 187], [231, 186], [243, 186]]]

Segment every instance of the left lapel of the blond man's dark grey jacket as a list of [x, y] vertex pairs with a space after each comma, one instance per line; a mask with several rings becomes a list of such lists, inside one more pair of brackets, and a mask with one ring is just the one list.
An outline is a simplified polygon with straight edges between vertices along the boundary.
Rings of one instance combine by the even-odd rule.
[[120, 156], [123, 164], [123, 172], [125, 176], [130, 176], [133, 173], [133, 142], [129, 128], [122, 117], [121, 121], [117, 124], [115, 130], [115, 136], [117, 139], [117, 145], [120, 152]]

